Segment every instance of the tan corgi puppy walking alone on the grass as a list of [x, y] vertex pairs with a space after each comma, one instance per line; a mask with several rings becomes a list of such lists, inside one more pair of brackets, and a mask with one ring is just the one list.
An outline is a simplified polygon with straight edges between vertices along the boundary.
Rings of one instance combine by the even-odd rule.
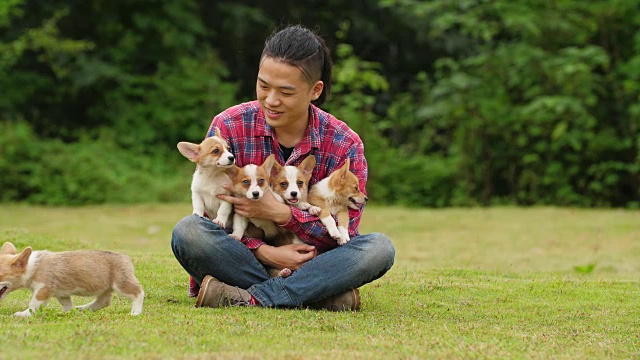
[[133, 301], [131, 315], [142, 313], [144, 291], [133, 274], [127, 255], [100, 250], [67, 252], [33, 251], [27, 246], [16, 253], [5, 242], [0, 249], [0, 300], [15, 289], [29, 288], [33, 297], [29, 308], [15, 316], [31, 316], [51, 297], [58, 299], [63, 311], [73, 308], [71, 295], [95, 296], [80, 310], [99, 310], [111, 303], [115, 290]]

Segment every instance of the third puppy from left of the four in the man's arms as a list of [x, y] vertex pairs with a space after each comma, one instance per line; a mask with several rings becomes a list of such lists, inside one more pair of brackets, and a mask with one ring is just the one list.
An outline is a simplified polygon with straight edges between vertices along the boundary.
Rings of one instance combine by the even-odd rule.
[[[297, 167], [274, 163], [271, 170], [271, 190], [275, 198], [287, 205], [307, 210], [312, 215], [318, 215], [321, 209], [307, 202], [309, 181], [315, 166], [316, 158], [313, 155], [307, 156]], [[303, 242], [293, 232], [280, 231], [274, 240], [274, 245], [288, 244], [303, 244]], [[291, 275], [291, 272], [288, 268], [269, 270], [271, 276], [287, 277]]]

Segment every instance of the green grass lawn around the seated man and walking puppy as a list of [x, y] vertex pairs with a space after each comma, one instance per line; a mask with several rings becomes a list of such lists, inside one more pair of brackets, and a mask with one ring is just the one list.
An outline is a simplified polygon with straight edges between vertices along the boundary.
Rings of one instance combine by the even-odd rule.
[[640, 211], [370, 206], [361, 231], [388, 234], [396, 264], [361, 288], [358, 313], [194, 308], [169, 246], [189, 212], [0, 206], [0, 241], [126, 252], [146, 292], [139, 317], [115, 296], [66, 314], [52, 300], [28, 319], [12, 314], [30, 293], [14, 292], [0, 359], [640, 357]]

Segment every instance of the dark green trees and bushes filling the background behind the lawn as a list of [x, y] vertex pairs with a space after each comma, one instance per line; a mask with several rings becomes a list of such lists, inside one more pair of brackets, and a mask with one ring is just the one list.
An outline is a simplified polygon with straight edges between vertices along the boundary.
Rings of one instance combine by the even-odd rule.
[[[640, 206], [640, 0], [0, 2], [0, 201], [180, 201], [175, 149], [254, 97], [275, 28], [329, 42], [326, 104], [379, 203]], [[399, 176], [398, 174], [403, 174]]]

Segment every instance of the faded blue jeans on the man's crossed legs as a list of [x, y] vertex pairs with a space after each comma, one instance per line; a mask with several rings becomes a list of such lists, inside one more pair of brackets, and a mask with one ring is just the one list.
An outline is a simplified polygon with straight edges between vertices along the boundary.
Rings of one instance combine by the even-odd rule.
[[395, 248], [387, 236], [359, 235], [311, 259], [289, 277], [271, 278], [244, 244], [197, 215], [176, 224], [171, 248], [180, 265], [198, 283], [211, 275], [248, 290], [267, 307], [296, 307], [360, 287], [384, 275], [395, 257]]

